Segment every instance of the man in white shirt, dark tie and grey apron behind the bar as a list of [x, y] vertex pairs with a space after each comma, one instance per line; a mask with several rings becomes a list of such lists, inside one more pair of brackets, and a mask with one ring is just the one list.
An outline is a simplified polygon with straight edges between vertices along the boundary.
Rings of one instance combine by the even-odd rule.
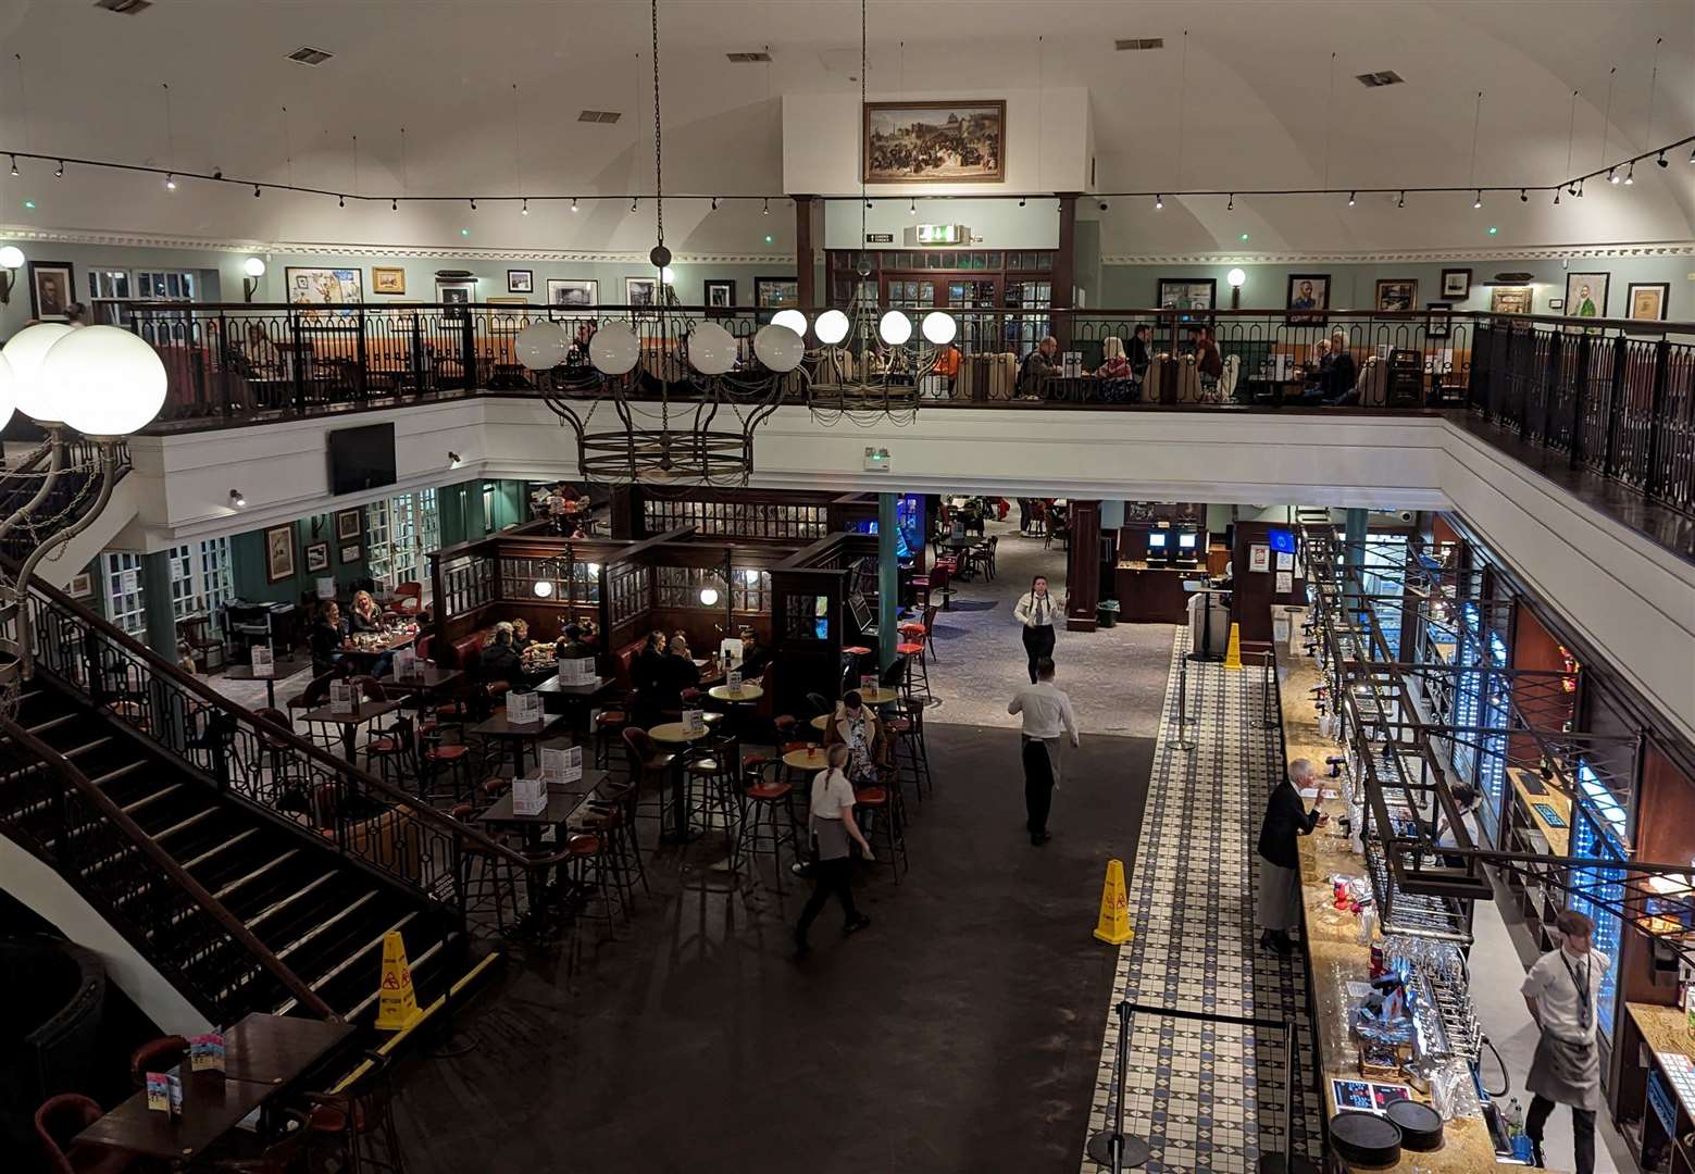
[[1576, 910], [1554, 918], [1559, 949], [1544, 954], [1524, 976], [1524, 1001], [1542, 1032], [1524, 1088], [1531, 1111], [1524, 1132], [1542, 1166], [1542, 1127], [1554, 1105], [1571, 1106], [1571, 1149], [1576, 1174], [1595, 1169], [1595, 1113], [1600, 1110], [1600, 1050], [1595, 1047], [1595, 1003], [1612, 961], [1590, 945], [1595, 923]]

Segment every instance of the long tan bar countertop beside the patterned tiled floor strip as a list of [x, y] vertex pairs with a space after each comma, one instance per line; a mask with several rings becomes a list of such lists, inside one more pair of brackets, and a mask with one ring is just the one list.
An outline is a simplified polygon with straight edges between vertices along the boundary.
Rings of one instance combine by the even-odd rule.
[[[1300, 623], [1300, 617], [1292, 618]], [[1288, 761], [1309, 759], [1324, 776], [1324, 759], [1339, 745], [1319, 735], [1319, 718], [1309, 689], [1322, 684], [1322, 674], [1310, 657], [1292, 654], [1278, 645], [1278, 671], [1281, 678], [1283, 742]], [[1359, 942], [1359, 918], [1354, 913], [1332, 908], [1331, 874], [1364, 874], [1364, 859], [1348, 850], [1348, 842], [1337, 830], [1337, 820], [1346, 813], [1339, 793], [1339, 779], [1320, 778], [1319, 806], [1331, 817], [1329, 823], [1300, 837], [1302, 884], [1302, 944], [1307, 950], [1307, 974], [1312, 983], [1314, 1044], [1317, 1047], [1319, 1083], [1324, 1088], [1325, 1120], [1336, 1115], [1331, 1079], [1373, 1079], [1359, 1076], [1356, 1044], [1348, 1030], [1348, 983], [1366, 983], [1371, 974], [1371, 949]], [[1381, 933], [1373, 930], [1373, 939]], [[1514, 983], [1519, 976], [1514, 976]], [[1400, 1077], [1375, 1077], [1383, 1084], [1409, 1084]], [[1414, 1093], [1415, 1099], [1429, 1103], [1427, 1096]], [[1429, 1152], [1403, 1150], [1395, 1166], [1346, 1166], [1331, 1157], [1331, 1169], [1398, 1171], [1402, 1174], [1478, 1174], [1495, 1169], [1495, 1145], [1481, 1116], [1463, 1116], [1442, 1127], [1442, 1147]], [[1524, 1169], [1507, 1162], [1502, 1169]]]

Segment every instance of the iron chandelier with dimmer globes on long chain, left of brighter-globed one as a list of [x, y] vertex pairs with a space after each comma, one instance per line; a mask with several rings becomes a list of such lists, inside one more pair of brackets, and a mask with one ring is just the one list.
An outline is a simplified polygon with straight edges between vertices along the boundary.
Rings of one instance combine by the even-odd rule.
[[[680, 313], [664, 246], [664, 136], [659, 120], [659, 0], [653, 17], [653, 176], [656, 305], [610, 320], [586, 342], [588, 364], [563, 366], [573, 339], [561, 322], [519, 332], [519, 361], [549, 371], [547, 407], [576, 432], [581, 476], [592, 481], [746, 485], [754, 430], [781, 403], [805, 357], [783, 324], [753, 335], [751, 354], [717, 322]], [[586, 410], [585, 410], [586, 405]], [[597, 413], [600, 420], [597, 422]], [[609, 420], [607, 415], [612, 418]]]

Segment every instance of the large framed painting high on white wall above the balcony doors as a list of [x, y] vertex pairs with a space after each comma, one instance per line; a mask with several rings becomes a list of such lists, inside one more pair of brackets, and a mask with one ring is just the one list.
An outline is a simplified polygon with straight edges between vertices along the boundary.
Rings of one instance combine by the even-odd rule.
[[866, 102], [866, 183], [1000, 183], [1005, 102]]

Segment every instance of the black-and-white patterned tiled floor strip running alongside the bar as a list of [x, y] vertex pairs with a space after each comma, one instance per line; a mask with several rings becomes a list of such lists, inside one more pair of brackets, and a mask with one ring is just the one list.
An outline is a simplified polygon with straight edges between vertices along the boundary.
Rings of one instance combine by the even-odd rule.
[[[1202, 1015], [1293, 1020], [1300, 1044], [1295, 1152], [1317, 1154], [1322, 1111], [1312, 1089], [1307, 976], [1300, 955], [1258, 950], [1254, 839], [1275, 771], [1261, 725], [1256, 671], [1188, 664], [1186, 737], [1176, 723], [1178, 671], [1188, 634], [1171, 649], [1166, 705], [1154, 747], [1148, 806], [1129, 876], [1131, 927], [1119, 949], [1107, 1006], [1093, 1133], [1114, 1096], [1119, 1001]], [[1183, 745], [1195, 749], [1185, 750]], [[1127, 1055], [1127, 1133], [1148, 1140], [1148, 1171], [1254, 1169], [1261, 1150], [1283, 1144], [1281, 1033], [1170, 1015], [1137, 1015]], [[1098, 1167], [1088, 1159], [1081, 1169]]]

